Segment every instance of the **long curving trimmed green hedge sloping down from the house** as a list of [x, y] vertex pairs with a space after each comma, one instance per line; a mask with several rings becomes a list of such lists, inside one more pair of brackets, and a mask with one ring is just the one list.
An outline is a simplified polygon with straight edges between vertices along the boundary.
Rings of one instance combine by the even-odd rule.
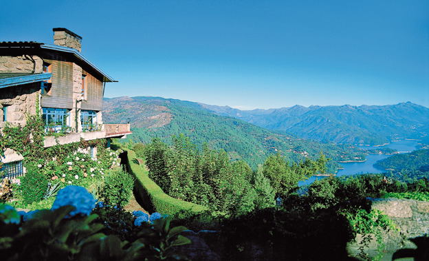
[[148, 177], [148, 170], [139, 164], [135, 152], [131, 149], [124, 149], [126, 153], [126, 167], [129, 174], [135, 177], [134, 195], [137, 202], [150, 213], [159, 212], [168, 215], [181, 213], [199, 213], [207, 211], [207, 207], [191, 202], [177, 200], [162, 191], [153, 180]]

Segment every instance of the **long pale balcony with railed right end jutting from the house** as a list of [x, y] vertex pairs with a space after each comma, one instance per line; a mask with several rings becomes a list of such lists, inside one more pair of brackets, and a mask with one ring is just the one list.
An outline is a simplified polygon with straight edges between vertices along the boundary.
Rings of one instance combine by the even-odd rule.
[[85, 131], [65, 134], [65, 136], [45, 136], [43, 147], [52, 147], [58, 144], [78, 143], [80, 138], [84, 140], [96, 140], [98, 138], [126, 138], [126, 135], [133, 134], [129, 124], [103, 124], [101, 130]]

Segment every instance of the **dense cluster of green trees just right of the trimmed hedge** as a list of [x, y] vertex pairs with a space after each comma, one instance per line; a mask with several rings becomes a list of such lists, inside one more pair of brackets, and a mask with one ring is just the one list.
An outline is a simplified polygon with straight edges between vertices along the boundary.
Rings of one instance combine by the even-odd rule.
[[173, 136], [172, 143], [154, 139], [144, 149], [149, 178], [168, 195], [228, 213], [254, 209], [252, 169], [246, 163], [231, 163], [228, 154], [207, 146], [199, 152], [183, 135]]

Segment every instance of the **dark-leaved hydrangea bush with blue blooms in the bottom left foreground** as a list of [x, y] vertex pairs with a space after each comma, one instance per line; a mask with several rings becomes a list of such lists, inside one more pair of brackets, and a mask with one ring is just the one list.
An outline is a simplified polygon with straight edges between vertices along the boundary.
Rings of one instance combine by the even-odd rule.
[[[76, 207], [67, 205], [69, 198], [76, 198]], [[12, 207], [0, 205], [2, 260], [187, 259], [172, 249], [190, 243], [179, 235], [186, 228], [172, 227], [168, 219], [155, 220], [145, 227], [129, 227], [128, 240], [123, 240], [104, 234], [105, 227], [109, 227], [107, 222], [87, 212], [94, 206], [94, 198], [83, 187], [62, 189], [57, 201], [54, 208], [58, 208], [32, 211], [23, 218]], [[123, 217], [116, 222], [122, 223]]]

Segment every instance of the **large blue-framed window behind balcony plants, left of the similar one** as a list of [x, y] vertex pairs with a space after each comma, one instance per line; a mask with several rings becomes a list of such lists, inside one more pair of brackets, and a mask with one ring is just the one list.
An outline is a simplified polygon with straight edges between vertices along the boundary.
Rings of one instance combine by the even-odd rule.
[[65, 132], [69, 126], [68, 109], [42, 108], [42, 121], [46, 132]]

